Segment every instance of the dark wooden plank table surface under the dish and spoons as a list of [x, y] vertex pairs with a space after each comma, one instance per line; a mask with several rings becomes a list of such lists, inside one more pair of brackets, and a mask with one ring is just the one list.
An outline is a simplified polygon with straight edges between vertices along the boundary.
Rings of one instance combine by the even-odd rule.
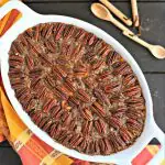
[[[130, 0], [111, 0], [114, 6], [131, 16]], [[97, 25], [117, 38], [135, 58], [148, 82], [154, 117], [165, 132], [165, 59], [158, 61], [147, 50], [122, 36], [112, 24], [95, 18], [89, 8], [92, 0], [26, 0], [26, 4], [42, 14], [63, 14], [81, 19]], [[142, 36], [153, 44], [165, 46], [165, 1], [139, 0]], [[61, 20], [59, 20], [61, 21]], [[152, 143], [157, 143], [152, 141]], [[21, 161], [8, 142], [0, 144], [0, 165], [20, 165]]]

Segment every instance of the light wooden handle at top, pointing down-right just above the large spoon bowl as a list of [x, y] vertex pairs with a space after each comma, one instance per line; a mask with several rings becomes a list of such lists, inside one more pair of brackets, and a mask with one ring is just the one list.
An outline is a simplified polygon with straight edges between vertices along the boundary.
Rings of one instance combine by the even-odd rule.
[[118, 10], [112, 3], [108, 0], [99, 0], [103, 3], [113, 14], [116, 14], [120, 20], [122, 20], [127, 25], [131, 26], [132, 21], [125, 14], [123, 14], [120, 10]]

